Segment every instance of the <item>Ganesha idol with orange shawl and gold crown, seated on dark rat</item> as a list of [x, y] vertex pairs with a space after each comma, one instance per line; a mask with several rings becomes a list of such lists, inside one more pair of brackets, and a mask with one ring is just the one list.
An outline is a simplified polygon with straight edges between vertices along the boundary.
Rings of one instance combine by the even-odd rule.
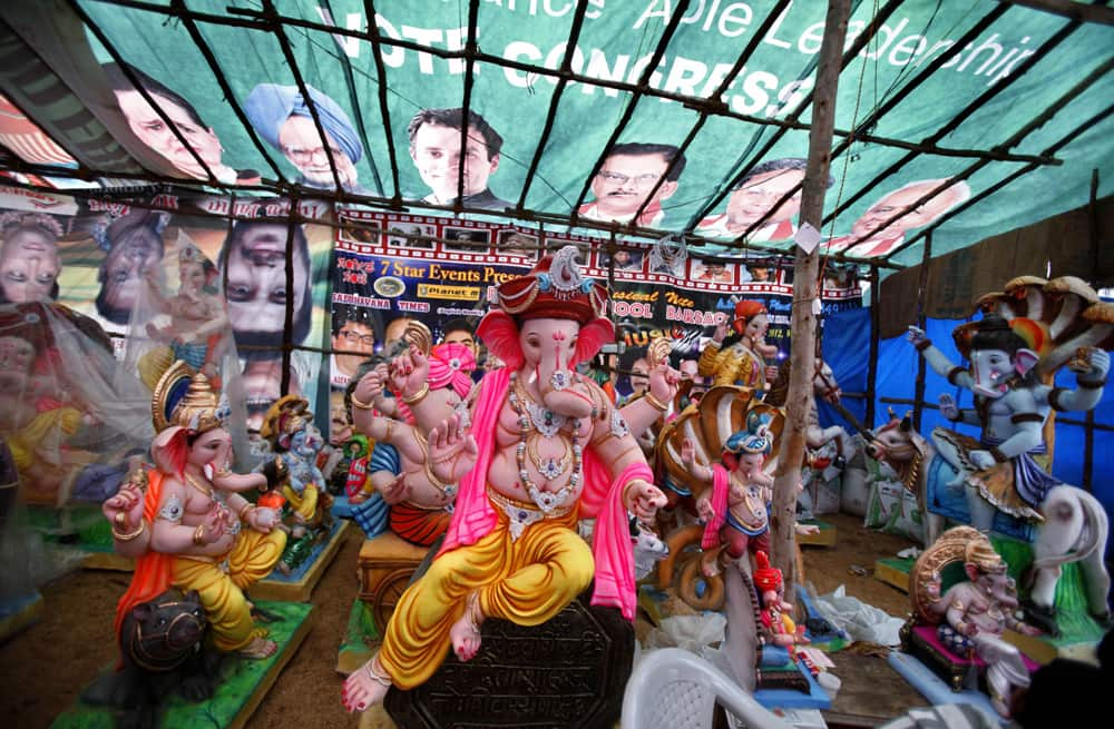
[[158, 433], [155, 467], [133, 473], [101, 511], [113, 525], [116, 551], [136, 559], [127, 593], [117, 607], [116, 629], [137, 605], [168, 589], [196, 591], [223, 652], [263, 659], [276, 646], [258, 625], [244, 593], [274, 568], [286, 544], [271, 509], [244, 492], [265, 491], [283, 474], [236, 474], [227, 406], [209, 380], [175, 362], [158, 380], [152, 414]]

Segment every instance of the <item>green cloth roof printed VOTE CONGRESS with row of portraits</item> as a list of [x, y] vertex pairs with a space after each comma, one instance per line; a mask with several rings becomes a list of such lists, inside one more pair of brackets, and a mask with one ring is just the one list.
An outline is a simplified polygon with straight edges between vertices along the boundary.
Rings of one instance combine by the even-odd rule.
[[[108, 195], [193, 184], [784, 249], [825, 12], [9, 1], [0, 168]], [[1105, 2], [856, 3], [824, 249], [912, 265], [927, 230], [947, 253], [1114, 190], [1112, 18]], [[462, 181], [460, 109], [476, 115]]]

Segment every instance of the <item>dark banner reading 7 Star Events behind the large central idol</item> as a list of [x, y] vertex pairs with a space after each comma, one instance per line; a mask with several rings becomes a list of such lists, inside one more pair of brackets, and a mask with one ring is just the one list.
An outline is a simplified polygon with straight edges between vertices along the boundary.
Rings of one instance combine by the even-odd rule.
[[[616, 343], [603, 355], [618, 376], [644, 363], [649, 341], [672, 343], [674, 365], [696, 359], [736, 303], [761, 302], [769, 312], [766, 342], [778, 347], [776, 366], [788, 357], [792, 262], [788, 257], [711, 258], [690, 255], [670, 240], [608, 239], [546, 233], [475, 220], [342, 210], [333, 272], [330, 385], [334, 407], [359, 364], [389, 353], [405, 323], [420, 321], [440, 342], [461, 322], [475, 328], [488, 311], [488, 289], [526, 273], [539, 255], [571, 245], [586, 276], [608, 286]], [[823, 309], [832, 314], [861, 306], [858, 282], [847, 269], [824, 278]], [[482, 343], [480, 343], [482, 345]], [[478, 353], [479, 371], [497, 366]]]

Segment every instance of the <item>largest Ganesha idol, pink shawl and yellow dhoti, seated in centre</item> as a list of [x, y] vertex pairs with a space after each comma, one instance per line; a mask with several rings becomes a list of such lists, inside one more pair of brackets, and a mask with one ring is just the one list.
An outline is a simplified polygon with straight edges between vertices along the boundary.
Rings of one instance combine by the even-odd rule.
[[[478, 334], [507, 366], [488, 373], [471, 412], [429, 435], [429, 462], [459, 483], [444, 544], [402, 595], [378, 656], [344, 684], [344, 705], [363, 710], [392, 686], [426, 682], [452, 650], [480, 648], [488, 618], [537, 625], [593, 580], [593, 603], [635, 614], [627, 510], [649, 520], [665, 503], [632, 427], [589, 378], [575, 372], [613, 338], [606, 289], [583, 278], [576, 249], [543, 258], [501, 284]], [[403, 398], [416, 393], [403, 391]], [[648, 424], [659, 411], [634, 403]], [[644, 427], [644, 425], [639, 426]], [[592, 548], [577, 522], [595, 518]]]

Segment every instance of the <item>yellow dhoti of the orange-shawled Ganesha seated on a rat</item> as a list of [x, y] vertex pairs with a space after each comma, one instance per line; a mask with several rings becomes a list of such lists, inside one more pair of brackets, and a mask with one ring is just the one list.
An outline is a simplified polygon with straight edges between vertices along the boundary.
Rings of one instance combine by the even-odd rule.
[[217, 650], [240, 650], [267, 634], [252, 620], [243, 590], [271, 573], [285, 546], [281, 530], [261, 534], [245, 529], [225, 556], [179, 555], [172, 561], [172, 583], [183, 591], [197, 590]]

